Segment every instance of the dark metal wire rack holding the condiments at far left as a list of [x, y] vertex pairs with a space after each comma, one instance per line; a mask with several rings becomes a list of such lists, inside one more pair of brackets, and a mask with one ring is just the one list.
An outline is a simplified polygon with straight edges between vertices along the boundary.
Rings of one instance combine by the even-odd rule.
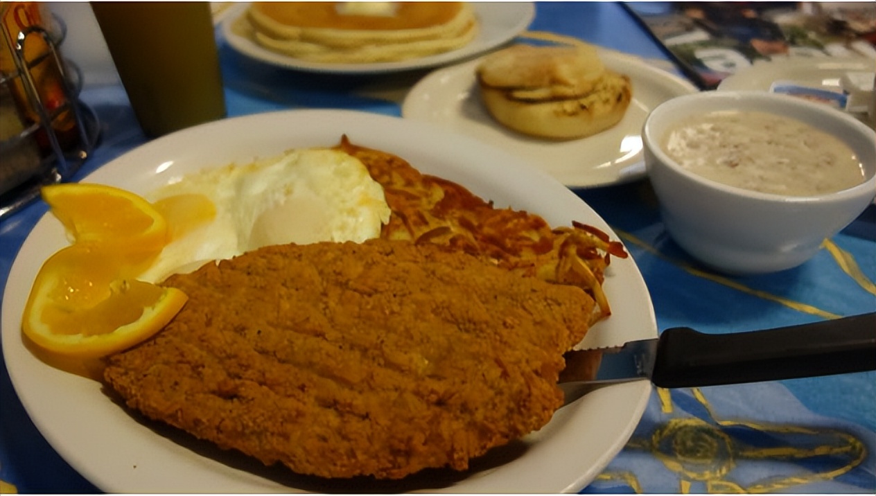
[[[8, 44], [14, 65], [11, 73], [0, 74], [0, 112], [9, 113], [16, 109], [13, 86], [20, 81], [25, 89], [26, 102], [18, 104], [28, 105], [39, 117], [32, 124], [22, 123], [23, 131], [0, 141], [0, 219], [11, 216], [39, 197], [42, 186], [70, 180], [88, 158], [99, 135], [94, 111], [79, 100], [81, 73], [78, 67], [63, 60], [58, 49], [66, 34], [66, 26], [59, 18], [53, 17], [53, 21], [60, 32], [56, 36], [42, 26], [28, 26], [20, 32], [10, 32], [4, 23], [0, 23], [0, 35]], [[45, 41], [48, 49], [28, 63], [25, 42], [34, 34]], [[40, 99], [39, 81], [32, 72], [41, 63], [53, 64], [63, 81], [64, 103], [53, 111], [48, 110]], [[78, 142], [65, 149], [53, 124], [67, 110], [74, 118]], [[12, 117], [7, 114], [5, 118]], [[45, 133], [43, 143], [47, 143], [47, 147], [37, 145], [38, 133]]]

